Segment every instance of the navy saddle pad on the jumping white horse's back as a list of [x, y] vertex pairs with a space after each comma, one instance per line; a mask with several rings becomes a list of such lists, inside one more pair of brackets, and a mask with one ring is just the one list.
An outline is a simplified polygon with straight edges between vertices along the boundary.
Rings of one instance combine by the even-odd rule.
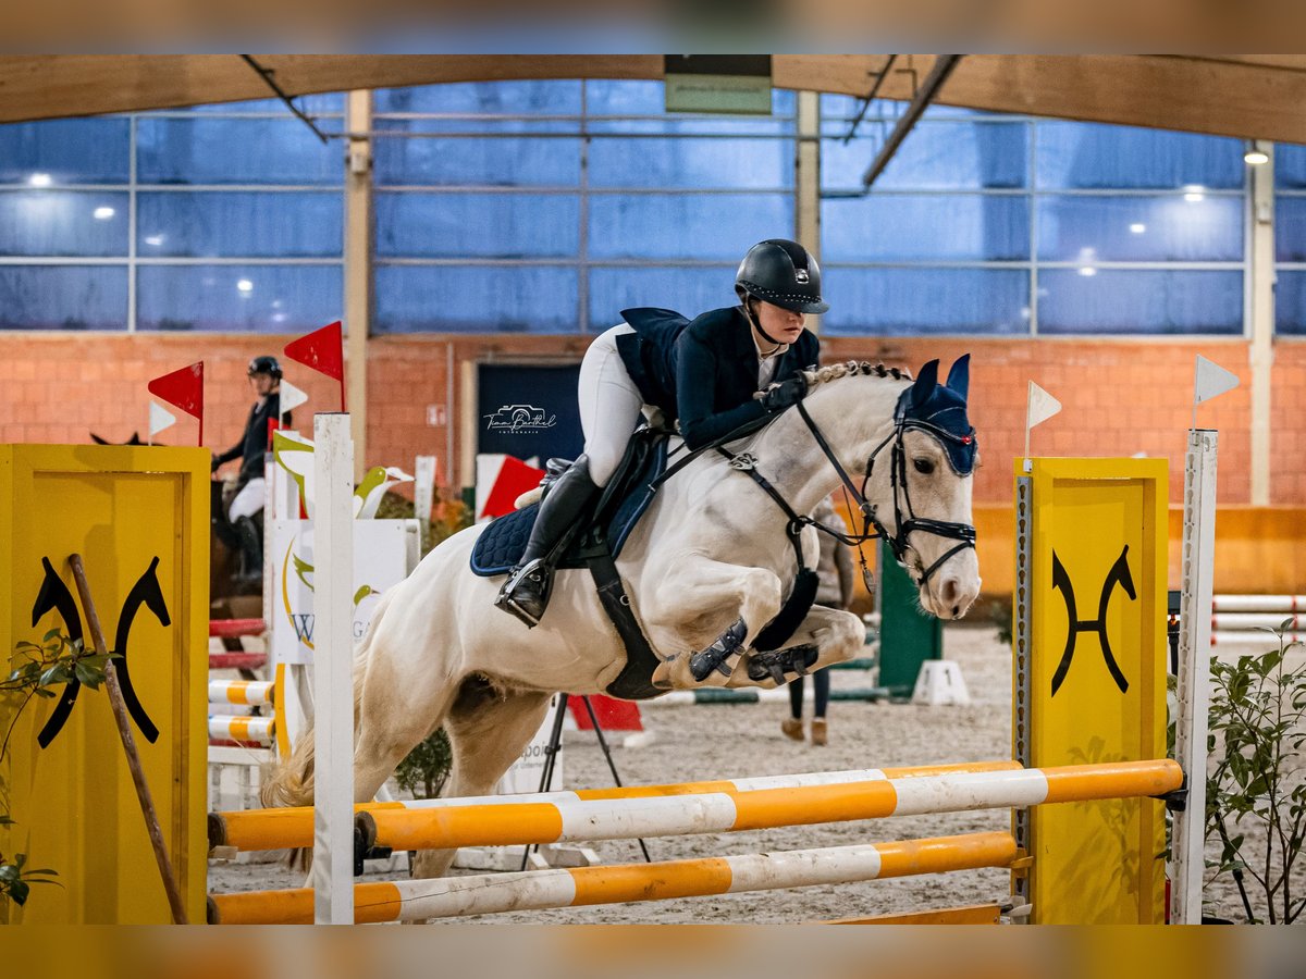
[[[640, 429], [631, 439], [626, 458], [613, 482], [605, 489], [596, 510], [594, 526], [602, 526], [609, 550], [615, 560], [631, 530], [653, 503], [654, 479], [666, 469], [666, 449], [669, 436], [665, 432]], [[490, 522], [477, 538], [471, 548], [471, 570], [483, 578], [507, 574], [521, 560], [530, 539], [530, 529], [535, 526], [539, 504], [533, 503], [520, 510]], [[585, 534], [577, 534], [559, 568], [584, 568], [584, 561], [576, 557], [579, 544]]]

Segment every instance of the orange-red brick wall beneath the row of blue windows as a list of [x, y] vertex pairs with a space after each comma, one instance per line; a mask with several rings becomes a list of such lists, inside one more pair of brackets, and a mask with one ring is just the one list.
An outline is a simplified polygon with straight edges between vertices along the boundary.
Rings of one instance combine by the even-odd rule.
[[[90, 441], [90, 432], [125, 441], [146, 431], [150, 377], [205, 362], [205, 443], [234, 444], [252, 402], [246, 365], [257, 354], [281, 355], [290, 337], [0, 334], [0, 441]], [[462, 364], [481, 360], [576, 362], [584, 337], [380, 337], [368, 349], [368, 449], [366, 462], [410, 467], [415, 454], [439, 458], [439, 479], [460, 478], [458, 411]], [[1132, 456], [1170, 461], [1170, 499], [1182, 489], [1185, 433], [1191, 418], [1192, 359], [1203, 354], [1234, 371], [1242, 386], [1202, 406], [1199, 424], [1220, 429], [1220, 500], [1250, 501], [1250, 368], [1238, 341], [1062, 341], [827, 338], [827, 359], [883, 360], [918, 369], [940, 358], [947, 367], [972, 352], [972, 420], [982, 466], [976, 501], [1011, 499], [1011, 459], [1023, 452], [1029, 380], [1060, 399], [1060, 415], [1033, 432], [1041, 456]], [[451, 376], [452, 363], [452, 376]], [[336, 385], [296, 364], [287, 376], [308, 392], [308, 410], [334, 410]], [[1275, 349], [1271, 501], [1306, 504], [1306, 345]], [[428, 419], [428, 406], [447, 418]], [[311, 416], [300, 412], [300, 431]], [[431, 424], [435, 420], [436, 424]], [[452, 427], [452, 432], [451, 432]], [[452, 436], [453, 457], [449, 459]], [[184, 418], [161, 439], [193, 444], [196, 423]], [[449, 463], [453, 463], [451, 470]]]

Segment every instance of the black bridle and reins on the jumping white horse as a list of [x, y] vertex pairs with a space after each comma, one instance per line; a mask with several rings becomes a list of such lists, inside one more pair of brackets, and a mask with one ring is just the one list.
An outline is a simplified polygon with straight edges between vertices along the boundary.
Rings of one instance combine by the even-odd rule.
[[[913, 581], [917, 587], [923, 587], [926, 582], [930, 581], [939, 568], [942, 568], [948, 559], [953, 555], [965, 551], [966, 548], [973, 548], [976, 546], [976, 529], [970, 523], [957, 523], [953, 521], [931, 520], [929, 517], [917, 517], [916, 510], [912, 506], [912, 495], [908, 489], [906, 479], [906, 449], [902, 445], [902, 437], [909, 428], [914, 428], [925, 432], [930, 437], [939, 441], [940, 445], [947, 448], [947, 443], [953, 443], [957, 445], [972, 445], [974, 443], [974, 429], [970, 429], [968, 435], [956, 435], [946, 428], [932, 424], [921, 418], [913, 418], [909, 411], [909, 398], [910, 389], [902, 392], [899, 398], [897, 409], [893, 412], [893, 431], [891, 431], [884, 440], [875, 446], [871, 454], [866, 459], [866, 474], [862, 476], [862, 486], [858, 488], [853, 484], [852, 476], [844, 467], [844, 463], [838, 461], [835, 456], [833, 449], [829, 448], [829, 443], [825, 440], [824, 433], [820, 431], [820, 426], [812, 419], [807, 411], [807, 406], [802, 401], [797, 402], [799, 416], [803, 419], [803, 424], [812, 433], [816, 440], [816, 445], [829, 459], [829, 463], [835, 467], [838, 474], [840, 480], [844, 484], [845, 499], [852, 495], [853, 500], [857, 501], [858, 512], [862, 514], [862, 530], [858, 534], [848, 534], [845, 531], [835, 530], [833, 527], [827, 527], [824, 523], [812, 520], [810, 516], [797, 513], [789, 501], [756, 470], [756, 459], [751, 453], [731, 453], [729, 449], [717, 445], [716, 449], [722, 456], [730, 461], [733, 469], [738, 469], [752, 478], [763, 491], [784, 510], [785, 516], [789, 517], [789, 526], [786, 533], [789, 534], [790, 542], [794, 546], [794, 551], [798, 555], [799, 569], [806, 567], [803, 561], [802, 546], [799, 543], [799, 535], [803, 527], [815, 527], [823, 534], [840, 540], [850, 547], [857, 547], [858, 557], [862, 564], [862, 577], [867, 581], [867, 589], [870, 589], [870, 572], [866, 565], [866, 555], [862, 553], [862, 544], [867, 540], [875, 540], [883, 538], [888, 542], [889, 548], [893, 551], [893, 557], [908, 569], [912, 574]], [[889, 458], [889, 483], [893, 487], [893, 526], [895, 533], [889, 534], [888, 529], [879, 520], [878, 508], [870, 500], [866, 499], [866, 487], [870, 483], [871, 473], [875, 469], [876, 457], [887, 448], [891, 448]], [[947, 453], [944, 453], [947, 454]], [[849, 508], [852, 509], [852, 506]], [[943, 556], [934, 561], [929, 568], [921, 572], [919, 577], [914, 573], [914, 569], [908, 564], [906, 552], [912, 548], [909, 536], [913, 533], [934, 534], [935, 536], [948, 538], [957, 540], [959, 543], [946, 551]]]

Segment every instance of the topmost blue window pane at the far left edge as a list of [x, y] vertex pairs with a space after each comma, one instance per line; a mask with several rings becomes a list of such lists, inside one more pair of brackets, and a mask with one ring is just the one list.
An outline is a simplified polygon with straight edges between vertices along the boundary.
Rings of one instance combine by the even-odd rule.
[[125, 184], [131, 120], [55, 119], [0, 125], [0, 184], [47, 174], [54, 184]]

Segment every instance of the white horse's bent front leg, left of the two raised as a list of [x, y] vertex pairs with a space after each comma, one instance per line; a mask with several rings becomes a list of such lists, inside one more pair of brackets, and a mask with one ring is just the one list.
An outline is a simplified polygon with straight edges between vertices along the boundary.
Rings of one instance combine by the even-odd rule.
[[780, 578], [763, 568], [743, 568], [704, 557], [679, 561], [675, 574], [641, 595], [641, 616], [658, 649], [677, 649], [653, 672], [666, 689], [725, 687], [748, 640], [776, 617], [782, 604]]

